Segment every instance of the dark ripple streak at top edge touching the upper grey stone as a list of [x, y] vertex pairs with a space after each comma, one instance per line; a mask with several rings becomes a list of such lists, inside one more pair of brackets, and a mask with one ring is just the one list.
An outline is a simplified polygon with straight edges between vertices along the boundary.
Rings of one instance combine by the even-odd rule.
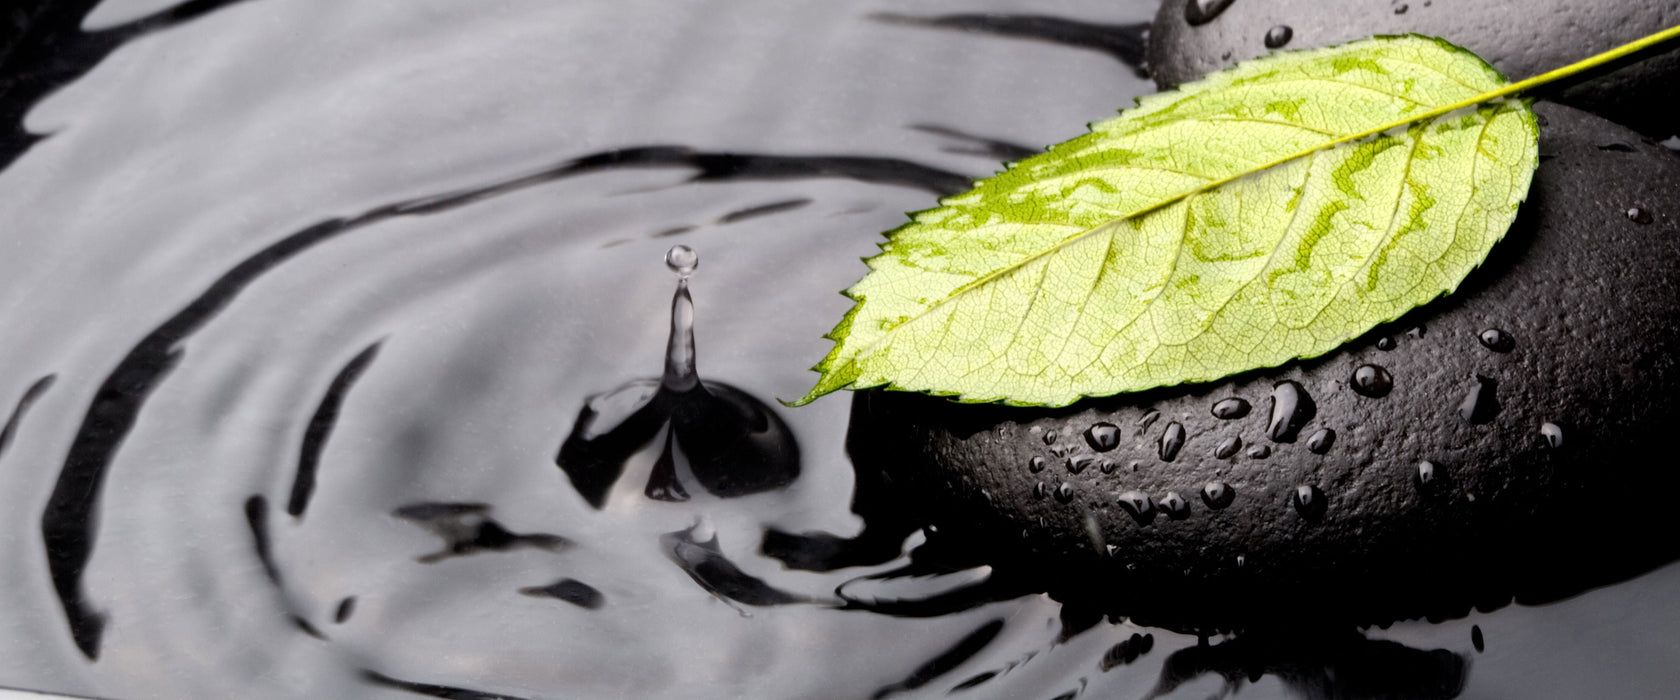
[[1042, 42], [1062, 44], [1079, 49], [1100, 50], [1116, 60], [1131, 65], [1139, 77], [1147, 77], [1144, 54], [1147, 47], [1147, 22], [1139, 24], [1090, 24], [1048, 15], [900, 15], [882, 12], [874, 15], [880, 22], [902, 24], [912, 27], [954, 29], [961, 32], [991, 34], [1000, 37], [1037, 39]]

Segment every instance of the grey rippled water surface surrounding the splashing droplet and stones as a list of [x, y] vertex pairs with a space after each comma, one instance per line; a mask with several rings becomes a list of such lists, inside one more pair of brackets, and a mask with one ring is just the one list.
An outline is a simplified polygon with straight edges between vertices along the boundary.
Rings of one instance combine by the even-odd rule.
[[815, 572], [759, 552], [766, 530], [862, 529], [843, 396], [773, 408], [800, 455], [774, 488], [711, 488], [679, 460], [665, 468], [687, 500], [650, 499], [655, 441], [596, 509], [556, 468], [590, 396], [660, 376], [670, 245], [702, 260], [699, 374], [771, 405], [801, 394], [847, 307], [835, 292], [879, 232], [1151, 89], [1116, 60], [1136, 59], [1146, 0], [245, 0], [155, 15], [168, 5], [94, 8], [81, 37], [102, 44], [64, 50], [64, 87], [27, 111], [50, 136], [8, 141], [0, 171], [0, 401], [17, 401], [0, 431], [0, 685], [123, 698], [1680, 685], [1673, 566], [1294, 656], [1126, 623], [1062, 640], [1042, 596], [895, 608], [984, 572], [870, 579], [904, 561]]

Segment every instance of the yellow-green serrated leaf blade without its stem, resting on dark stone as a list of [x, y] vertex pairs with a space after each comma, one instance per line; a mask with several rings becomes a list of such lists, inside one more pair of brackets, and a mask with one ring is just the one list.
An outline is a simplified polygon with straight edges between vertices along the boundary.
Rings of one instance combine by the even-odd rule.
[[1473, 104], [1502, 86], [1406, 35], [1144, 97], [890, 232], [801, 403], [1060, 406], [1327, 353], [1457, 289], [1510, 227], [1539, 131], [1525, 101]]

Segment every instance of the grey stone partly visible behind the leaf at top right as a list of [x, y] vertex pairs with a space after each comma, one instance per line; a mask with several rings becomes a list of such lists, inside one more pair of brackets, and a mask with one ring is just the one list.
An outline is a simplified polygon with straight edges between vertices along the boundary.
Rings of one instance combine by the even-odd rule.
[[[1510, 79], [1562, 67], [1680, 24], [1680, 0], [1235, 0], [1191, 27], [1184, 5], [1166, 0], [1149, 32], [1149, 67], [1171, 87], [1265, 55], [1265, 35], [1289, 25], [1284, 49], [1342, 44], [1373, 34], [1443, 37], [1487, 59]], [[1404, 13], [1394, 10], [1406, 7]], [[1576, 86], [1557, 101], [1656, 138], [1680, 131], [1680, 52], [1651, 57]]]

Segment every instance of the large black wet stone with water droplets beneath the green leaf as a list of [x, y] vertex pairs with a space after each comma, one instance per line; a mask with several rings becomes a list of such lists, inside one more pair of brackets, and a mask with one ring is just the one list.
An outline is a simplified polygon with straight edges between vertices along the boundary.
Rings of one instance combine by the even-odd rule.
[[[959, 559], [1063, 601], [1198, 631], [1448, 618], [1512, 596], [1557, 599], [1673, 559], [1680, 158], [1599, 118], [1539, 111], [1529, 201], [1457, 294], [1312, 361], [1065, 410], [860, 393], [848, 440], [858, 504], [892, 510], [882, 505], [892, 490]], [[1630, 218], [1631, 206], [1650, 223]], [[1478, 336], [1492, 327], [1514, 349], [1485, 347]], [[1391, 351], [1378, 347], [1383, 337]], [[1393, 376], [1383, 398], [1349, 386], [1368, 363]], [[1460, 411], [1478, 376], [1497, 383], [1502, 406], [1485, 423]], [[1273, 441], [1268, 396], [1285, 379], [1317, 413], [1295, 441]], [[1215, 418], [1228, 396], [1253, 410]], [[1149, 411], [1159, 418], [1141, 428]], [[1117, 448], [1087, 441], [1099, 421], [1122, 428]], [[1188, 438], [1163, 462], [1173, 423]], [[1549, 447], [1544, 423], [1561, 428], [1561, 447]], [[1317, 455], [1309, 441], [1324, 428], [1336, 440]], [[1243, 448], [1216, 458], [1230, 436]], [[1250, 457], [1255, 445], [1270, 455]], [[1067, 458], [1080, 455], [1117, 468], [1070, 473]], [[1047, 462], [1037, 473], [1035, 457]], [[1425, 460], [1435, 480], [1420, 485]], [[1201, 499], [1208, 482], [1235, 490], [1228, 507]], [[1294, 504], [1300, 487], [1322, 494], [1317, 507]], [[1117, 502], [1129, 492], [1149, 495], [1152, 520]], [[1163, 507], [1169, 492], [1188, 504], [1183, 519]]]

